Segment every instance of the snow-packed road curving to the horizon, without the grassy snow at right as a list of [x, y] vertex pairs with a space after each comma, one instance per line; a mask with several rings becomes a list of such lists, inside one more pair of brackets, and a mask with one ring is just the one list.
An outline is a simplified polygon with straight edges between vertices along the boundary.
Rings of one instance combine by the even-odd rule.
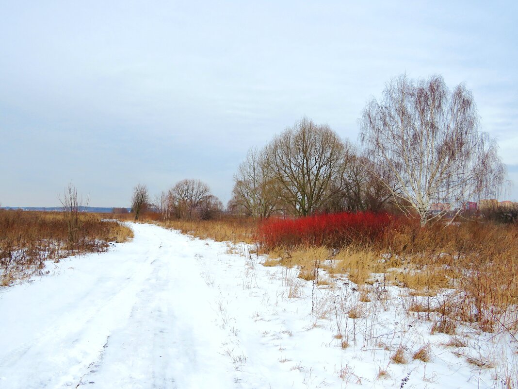
[[0, 291], [1, 388], [235, 385], [214, 292], [197, 269], [203, 242], [133, 229], [132, 243]]

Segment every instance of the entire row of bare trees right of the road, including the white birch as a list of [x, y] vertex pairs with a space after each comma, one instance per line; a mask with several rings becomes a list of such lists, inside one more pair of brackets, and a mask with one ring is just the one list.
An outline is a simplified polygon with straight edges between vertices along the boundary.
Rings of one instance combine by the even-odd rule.
[[[360, 146], [304, 117], [251, 148], [234, 175], [226, 212], [263, 219], [389, 211], [417, 217], [421, 226], [447, 214], [454, 218], [464, 202], [496, 197], [505, 183], [498, 146], [478, 127], [464, 85], [450, 91], [440, 76], [396, 77], [364, 108]], [[195, 179], [178, 182], [154, 202], [137, 186], [132, 204], [136, 218], [142, 206], [164, 220], [223, 213], [221, 201]]]

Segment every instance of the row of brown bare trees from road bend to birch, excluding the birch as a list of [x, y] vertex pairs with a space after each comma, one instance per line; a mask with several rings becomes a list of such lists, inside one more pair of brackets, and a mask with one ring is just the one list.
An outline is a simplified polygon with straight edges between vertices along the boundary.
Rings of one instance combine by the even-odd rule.
[[389, 175], [327, 124], [302, 118], [263, 148], [248, 151], [234, 175], [226, 208], [207, 184], [183, 179], [154, 199], [146, 186], [138, 184], [132, 212], [136, 219], [152, 211], [168, 221], [207, 220], [223, 214], [260, 219], [390, 210], [391, 192], [379, 178]]

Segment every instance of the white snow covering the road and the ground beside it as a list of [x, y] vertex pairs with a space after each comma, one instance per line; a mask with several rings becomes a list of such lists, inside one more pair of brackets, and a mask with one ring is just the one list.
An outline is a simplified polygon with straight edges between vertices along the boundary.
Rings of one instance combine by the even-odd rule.
[[[516, 377], [510, 336], [430, 335], [397, 287], [375, 284], [362, 302], [346, 279], [315, 287], [244, 244], [132, 228], [131, 243], [0, 289], [0, 388], [447, 389]], [[412, 359], [421, 348], [429, 362]], [[398, 349], [407, 363], [391, 360]]]

